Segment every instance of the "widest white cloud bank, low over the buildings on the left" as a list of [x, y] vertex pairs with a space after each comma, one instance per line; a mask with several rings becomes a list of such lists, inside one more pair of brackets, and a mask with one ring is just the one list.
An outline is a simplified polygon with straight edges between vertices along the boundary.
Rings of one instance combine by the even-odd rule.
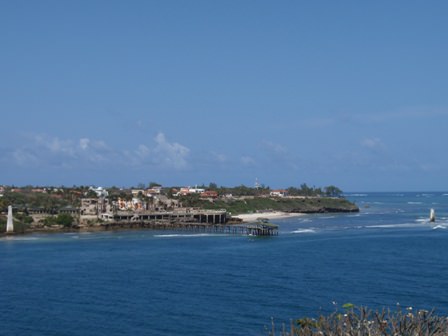
[[48, 135], [32, 135], [25, 144], [9, 149], [7, 159], [18, 166], [53, 166], [82, 168], [87, 166], [132, 165], [184, 169], [190, 150], [177, 142], [169, 142], [164, 133], [156, 135], [150, 144], [134, 149], [117, 149], [104, 140], [60, 139]]

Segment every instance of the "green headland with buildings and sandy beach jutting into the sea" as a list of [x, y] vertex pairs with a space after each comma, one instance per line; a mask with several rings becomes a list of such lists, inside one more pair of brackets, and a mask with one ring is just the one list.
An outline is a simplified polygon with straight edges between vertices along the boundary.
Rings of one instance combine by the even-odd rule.
[[164, 188], [154, 182], [148, 187], [141, 184], [127, 189], [0, 186], [0, 236], [6, 235], [9, 205], [14, 213], [12, 234], [23, 234], [117, 228], [176, 229], [184, 224], [246, 224], [258, 218], [359, 211], [341, 195], [342, 191], [334, 186], [315, 188], [306, 184], [280, 190], [258, 185], [218, 187], [214, 183], [193, 188]]

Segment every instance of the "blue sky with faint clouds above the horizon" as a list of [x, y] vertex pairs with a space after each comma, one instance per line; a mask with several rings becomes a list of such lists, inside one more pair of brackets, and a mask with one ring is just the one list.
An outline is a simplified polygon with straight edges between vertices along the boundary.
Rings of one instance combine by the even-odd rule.
[[0, 1], [0, 184], [448, 190], [446, 1]]

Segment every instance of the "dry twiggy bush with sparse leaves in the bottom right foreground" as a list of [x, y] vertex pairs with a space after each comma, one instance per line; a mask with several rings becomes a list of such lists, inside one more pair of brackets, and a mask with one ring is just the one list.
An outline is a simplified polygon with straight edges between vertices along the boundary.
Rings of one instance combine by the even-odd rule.
[[[398, 309], [395, 312], [383, 309], [371, 311], [364, 307], [343, 306], [344, 312], [334, 312], [317, 319], [302, 318], [291, 325], [282, 326], [277, 334], [281, 336], [446, 336], [448, 318], [438, 316], [434, 311], [413, 311]], [[289, 329], [289, 330], [288, 330]], [[269, 335], [275, 336], [272, 322]]]

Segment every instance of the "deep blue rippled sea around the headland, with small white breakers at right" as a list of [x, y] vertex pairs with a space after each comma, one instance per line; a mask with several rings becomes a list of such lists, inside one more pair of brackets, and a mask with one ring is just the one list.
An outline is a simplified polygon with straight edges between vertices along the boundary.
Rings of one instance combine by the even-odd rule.
[[348, 302], [447, 314], [448, 193], [346, 197], [359, 214], [275, 220], [270, 238], [1, 238], [0, 335], [267, 335], [271, 317], [280, 325]]

